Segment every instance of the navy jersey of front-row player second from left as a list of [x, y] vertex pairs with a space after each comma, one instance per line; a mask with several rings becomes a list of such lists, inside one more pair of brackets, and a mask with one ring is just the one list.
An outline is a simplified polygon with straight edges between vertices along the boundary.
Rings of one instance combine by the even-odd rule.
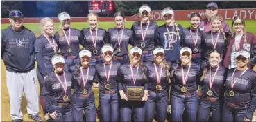
[[[96, 69], [94, 66], [89, 66], [89, 71], [87, 72], [88, 68], [85, 69], [80, 64], [75, 65], [76, 70], [72, 73], [74, 77], [74, 92], [76, 94], [83, 94], [82, 91], [85, 89], [88, 92], [92, 91], [92, 83], [94, 82], [94, 77], [96, 75]], [[80, 72], [80, 69], [83, 70], [83, 76]], [[88, 73], [88, 75], [87, 75]], [[84, 77], [84, 81], [83, 81]], [[88, 77], [88, 78], [87, 78]], [[87, 81], [86, 81], [87, 78]], [[86, 82], [86, 83], [85, 83]]]

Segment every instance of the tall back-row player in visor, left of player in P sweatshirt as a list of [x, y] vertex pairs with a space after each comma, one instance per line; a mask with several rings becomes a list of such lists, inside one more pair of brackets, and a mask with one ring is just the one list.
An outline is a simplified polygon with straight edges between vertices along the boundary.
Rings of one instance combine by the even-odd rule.
[[155, 46], [159, 45], [154, 41], [157, 23], [151, 21], [151, 8], [144, 4], [139, 8], [139, 17], [141, 21], [133, 23], [131, 30], [133, 31], [134, 45], [142, 49], [142, 61], [144, 63], [152, 63], [152, 51]]

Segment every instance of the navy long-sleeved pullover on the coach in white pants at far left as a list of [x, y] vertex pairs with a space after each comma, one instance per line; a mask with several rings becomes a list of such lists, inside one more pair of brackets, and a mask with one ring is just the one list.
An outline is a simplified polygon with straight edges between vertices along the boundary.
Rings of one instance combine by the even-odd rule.
[[21, 31], [12, 26], [1, 31], [1, 59], [9, 72], [28, 72], [35, 67], [35, 34], [24, 26]]

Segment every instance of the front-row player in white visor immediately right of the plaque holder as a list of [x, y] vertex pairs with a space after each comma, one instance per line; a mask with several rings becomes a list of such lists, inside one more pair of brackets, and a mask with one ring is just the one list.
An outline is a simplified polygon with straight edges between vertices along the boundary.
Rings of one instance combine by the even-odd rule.
[[[147, 65], [148, 101], [146, 101], [146, 120], [165, 121], [167, 119], [168, 87], [171, 67], [164, 59], [164, 49], [155, 48], [154, 61]], [[155, 114], [156, 112], [156, 114]], [[155, 117], [154, 117], [155, 115]]]

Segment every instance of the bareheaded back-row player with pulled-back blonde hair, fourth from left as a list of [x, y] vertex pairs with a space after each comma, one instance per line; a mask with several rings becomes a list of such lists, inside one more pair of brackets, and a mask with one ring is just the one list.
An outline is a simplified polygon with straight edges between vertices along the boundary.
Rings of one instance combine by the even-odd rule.
[[87, 15], [87, 21], [89, 23], [89, 28], [83, 28], [81, 34], [83, 37], [83, 47], [86, 50], [92, 52], [92, 60], [89, 65], [95, 66], [97, 63], [102, 63], [101, 58], [101, 48], [105, 43], [108, 42], [108, 34], [102, 29], [98, 28], [98, 14], [95, 12], [90, 12]]

